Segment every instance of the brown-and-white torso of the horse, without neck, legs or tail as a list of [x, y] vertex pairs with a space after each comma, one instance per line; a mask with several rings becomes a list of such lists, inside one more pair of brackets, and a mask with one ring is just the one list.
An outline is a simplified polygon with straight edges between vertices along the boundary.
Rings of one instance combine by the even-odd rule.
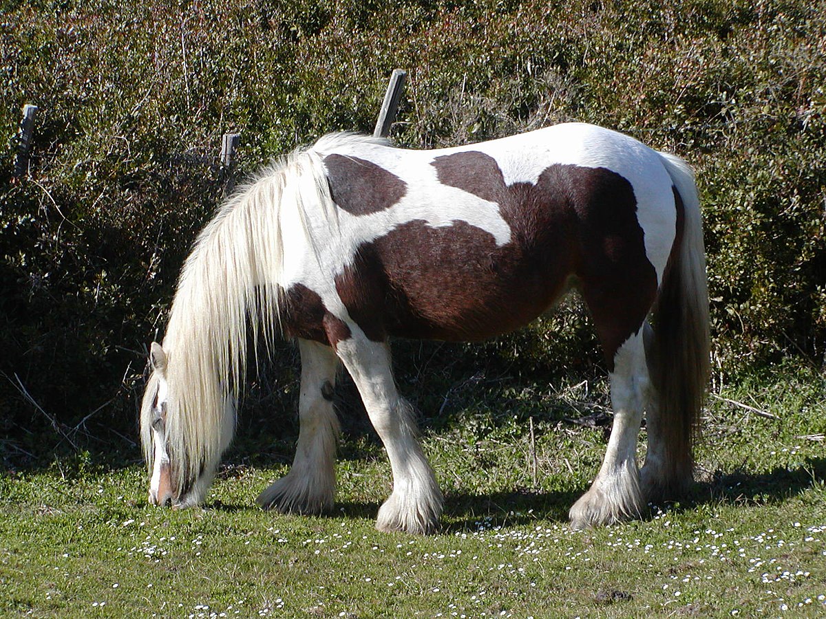
[[659, 155], [635, 139], [568, 124], [431, 151], [330, 144], [351, 247], [335, 292], [370, 338], [488, 338], [571, 281], [595, 299], [640, 291], [634, 321], [653, 303], [676, 210]]

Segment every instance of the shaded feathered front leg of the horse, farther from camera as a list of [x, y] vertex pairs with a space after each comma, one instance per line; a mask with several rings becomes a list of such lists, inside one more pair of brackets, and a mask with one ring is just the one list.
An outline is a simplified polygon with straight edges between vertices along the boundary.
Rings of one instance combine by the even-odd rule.
[[333, 409], [333, 386], [339, 360], [333, 349], [298, 340], [301, 351], [300, 429], [296, 456], [286, 476], [256, 499], [264, 509], [284, 513], [321, 513], [333, 507], [335, 442], [339, 420]]

